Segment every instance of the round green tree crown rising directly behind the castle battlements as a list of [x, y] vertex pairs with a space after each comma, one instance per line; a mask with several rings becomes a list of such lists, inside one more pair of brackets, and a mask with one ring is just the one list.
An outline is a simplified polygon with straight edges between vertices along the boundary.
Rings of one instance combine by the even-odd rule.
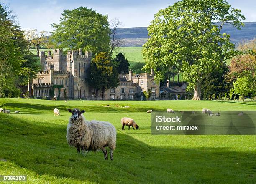
[[82, 48], [93, 54], [110, 50], [108, 15], [102, 15], [87, 7], [64, 10], [51, 39], [59, 48]]

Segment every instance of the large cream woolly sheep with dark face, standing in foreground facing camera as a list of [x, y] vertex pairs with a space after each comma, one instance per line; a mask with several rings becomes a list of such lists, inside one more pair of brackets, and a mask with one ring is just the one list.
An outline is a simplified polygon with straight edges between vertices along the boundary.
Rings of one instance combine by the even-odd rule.
[[110, 148], [110, 159], [113, 160], [113, 150], [116, 144], [116, 129], [109, 122], [105, 121], [87, 121], [84, 118], [84, 110], [68, 109], [72, 116], [67, 125], [67, 142], [69, 146], [77, 148], [77, 152], [97, 151], [101, 149], [105, 160], [108, 159], [107, 150]]

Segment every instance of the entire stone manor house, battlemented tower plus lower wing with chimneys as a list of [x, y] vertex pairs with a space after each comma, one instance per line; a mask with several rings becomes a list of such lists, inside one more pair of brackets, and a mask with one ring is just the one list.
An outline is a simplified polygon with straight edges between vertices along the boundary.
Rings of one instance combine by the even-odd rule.
[[[61, 49], [40, 52], [41, 71], [29, 85], [29, 93], [35, 98], [59, 99], [96, 99], [96, 89], [89, 86], [87, 77], [92, 60], [92, 53], [82, 49], [67, 51], [63, 55]], [[119, 74], [119, 86], [105, 91], [105, 100], [143, 99], [143, 91], [151, 91], [150, 99], [159, 98], [159, 84], [154, 82], [154, 72], [143, 74]], [[102, 98], [102, 89], [98, 91]]]

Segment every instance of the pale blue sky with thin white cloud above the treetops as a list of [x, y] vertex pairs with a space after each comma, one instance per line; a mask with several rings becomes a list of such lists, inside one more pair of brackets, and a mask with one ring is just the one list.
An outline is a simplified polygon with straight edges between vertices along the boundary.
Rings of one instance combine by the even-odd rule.
[[[145, 27], [160, 9], [177, 0], [0, 0], [10, 6], [23, 29], [51, 31], [50, 23], [58, 23], [64, 9], [87, 6], [109, 19], [120, 18], [123, 27]], [[242, 10], [246, 21], [256, 21], [256, 0], [227, 0]]]

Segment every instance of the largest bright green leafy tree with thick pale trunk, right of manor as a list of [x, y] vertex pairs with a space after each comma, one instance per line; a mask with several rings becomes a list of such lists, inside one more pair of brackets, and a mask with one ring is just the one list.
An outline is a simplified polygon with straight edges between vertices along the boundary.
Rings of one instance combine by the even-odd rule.
[[145, 70], [154, 68], [156, 80], [175, 66], [201, 99], [201, 83], [216, 66], [236, 55], [230, 35], [220, 33], [227, 23], [240, 29], [245, 17], [225, 0], [182, 0], [155, 15], [143, 45]]

